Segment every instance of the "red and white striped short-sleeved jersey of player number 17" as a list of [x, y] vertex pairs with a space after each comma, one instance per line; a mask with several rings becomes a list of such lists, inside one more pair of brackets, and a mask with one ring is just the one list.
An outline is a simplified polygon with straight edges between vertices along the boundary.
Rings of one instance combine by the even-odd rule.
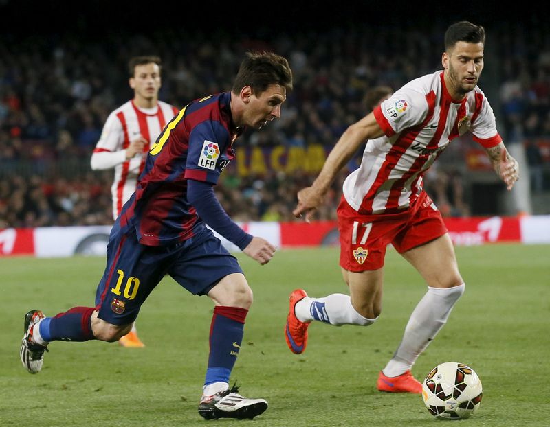
[[391, 214], [412, 205], [422, 176], [452, 139], [470, 131], [485, 148], [502, 139], [477, 86], [452, 99], [443, 71], [408, 82], [373, 111], [384, 136], [369, 140], [360, 167], [344, 181], [344, 196], [360, 214]]

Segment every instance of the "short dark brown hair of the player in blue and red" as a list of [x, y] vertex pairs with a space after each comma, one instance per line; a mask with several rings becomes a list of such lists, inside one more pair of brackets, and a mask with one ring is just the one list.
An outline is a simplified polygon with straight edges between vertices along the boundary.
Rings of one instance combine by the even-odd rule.
[[247, 52], [236, 74], [233, 93], [240, 93], [244, 86], [250, 86], [256, 95], [260, 95], [272, 84], [280, 84], [292, 91], [292, 71], [287, 59], [273, 52]]

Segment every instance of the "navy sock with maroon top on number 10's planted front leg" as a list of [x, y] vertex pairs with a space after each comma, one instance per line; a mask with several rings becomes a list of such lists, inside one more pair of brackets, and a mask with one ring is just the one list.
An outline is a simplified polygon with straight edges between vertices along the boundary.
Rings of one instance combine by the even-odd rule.
[[228, 382], [243, 341], [248, 310], [239, 307], [214, 308], [210, 325], [210, 356], [204, 385]]

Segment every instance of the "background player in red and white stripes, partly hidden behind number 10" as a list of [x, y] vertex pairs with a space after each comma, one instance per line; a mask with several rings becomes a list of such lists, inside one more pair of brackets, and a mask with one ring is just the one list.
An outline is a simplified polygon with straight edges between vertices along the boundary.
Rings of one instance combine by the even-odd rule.
[[[131, 58], [129, 84], [133, 89], [133, 100], [109, 115], [91, 155], [93, 170], [115, 170], [111, 186], [114, 220], [135, 192], [137, 177], [144, 168], [151, 143], [157, 140], [166, 123], [177, 114], [177, 108], [159, 101], [160, 67], [157, 56]], [[144, 347], [135, 325], [118, 342], [124, 347]]]

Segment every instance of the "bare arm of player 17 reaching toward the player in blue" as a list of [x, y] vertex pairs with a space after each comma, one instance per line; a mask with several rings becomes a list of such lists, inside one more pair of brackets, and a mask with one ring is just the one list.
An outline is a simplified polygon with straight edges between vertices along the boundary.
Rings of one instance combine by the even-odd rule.
[[349, 126], [331, 150], [313, 185], [298, 192], [298, 206], [294, 209], [294, 216], [300, 217], [305, 213], [305, 220], [309, 222], [314, 211], [322, 204], [336, 175], [350, 161], [361, 143], [366, 139], [375, 139], [382, 135], [384, 132], [376, 122], [373, 113]]

